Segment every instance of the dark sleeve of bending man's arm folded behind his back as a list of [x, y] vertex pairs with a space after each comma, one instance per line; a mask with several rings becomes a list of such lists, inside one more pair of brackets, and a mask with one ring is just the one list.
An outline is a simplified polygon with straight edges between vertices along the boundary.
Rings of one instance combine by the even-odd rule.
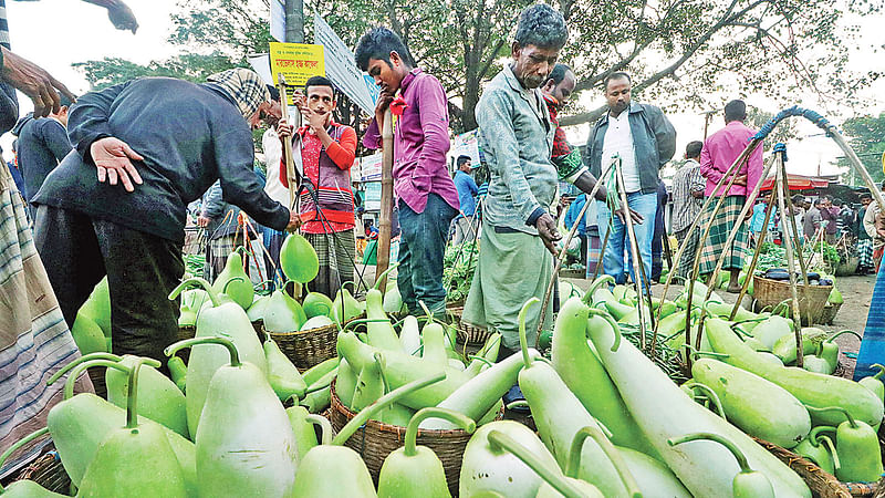
[[111, 107], [117, 95], [129, 83], [121, 83], [98, 92], [90, 92], [77, 98], [76, 104], [71, 108], [67, 118], [67, 136], [84, 162], [92, 163], [90, 146], [93, 142], [106, 136], [113, 136], [107, 124], [107, 120], [111, 116]]

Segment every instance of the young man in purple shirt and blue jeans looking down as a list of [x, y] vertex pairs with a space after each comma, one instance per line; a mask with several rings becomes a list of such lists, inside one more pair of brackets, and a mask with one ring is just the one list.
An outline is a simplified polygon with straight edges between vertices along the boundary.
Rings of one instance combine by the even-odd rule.
[[[395, 114], [394, 194], [399, 207], [397, 286], [412, 314], [420, 301], [438, 315], [446, 308], [442, 255], [449, 224], [458, 214], [458, 190], [446, 168], [449, 114], [439, 81], [415, 68], [399, 37], [374, 28], [356, 45], [356, 65], [381, 87], [375, 118], [363, 145], [381, 148], [384, 113]], [[423, 314], [423, 313], [421, 313]]]

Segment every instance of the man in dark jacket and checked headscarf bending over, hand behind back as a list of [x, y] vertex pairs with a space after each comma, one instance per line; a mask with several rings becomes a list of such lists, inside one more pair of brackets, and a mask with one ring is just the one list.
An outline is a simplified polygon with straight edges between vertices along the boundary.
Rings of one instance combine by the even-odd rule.
[[217, 179], [225, 200], [258, 222], [298, 226], [252, 172], [246, 120], [269, 98], [243, 69], [204, 84], [146, 77], [80, 97], [70, 118], [75, 152], [33, 199], [37, 249], [69, 324], [107, 274], [114, 352], [163, 359], [178, 334], [178, 303], [167, 295], [185, 270], [186, 206]]

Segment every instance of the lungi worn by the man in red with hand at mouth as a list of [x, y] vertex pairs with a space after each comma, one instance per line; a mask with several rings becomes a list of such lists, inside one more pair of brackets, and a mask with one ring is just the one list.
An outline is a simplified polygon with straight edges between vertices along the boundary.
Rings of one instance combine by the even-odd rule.
[[353, 230], [335, 234], [304, 234], [320, 258], [320, 272], [308, 283], [311, 292], [335, 298], [341, 284], [353, 281], [356, 241]]

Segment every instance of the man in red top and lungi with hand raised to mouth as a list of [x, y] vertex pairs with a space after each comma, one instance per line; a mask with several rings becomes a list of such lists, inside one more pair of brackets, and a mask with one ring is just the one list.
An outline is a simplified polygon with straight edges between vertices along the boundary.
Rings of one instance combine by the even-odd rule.
[[[325, 77], [308, 80], [304, 95], [296, 98], [306, 124], [292, 133], [292, 125], [281, 121], [277, 133], [281, 141], [292, 141], [300, 181], [301, 232], [320, 257], [320, 273], [308, 287], [334, 298], [343, 282], [353, 280], [351, 166], [356, 155], [356, 132], [332, 120], [337, 103], [332, 82]], [[280, 167], [279, 181], [289, 187], [285, 166]]]

